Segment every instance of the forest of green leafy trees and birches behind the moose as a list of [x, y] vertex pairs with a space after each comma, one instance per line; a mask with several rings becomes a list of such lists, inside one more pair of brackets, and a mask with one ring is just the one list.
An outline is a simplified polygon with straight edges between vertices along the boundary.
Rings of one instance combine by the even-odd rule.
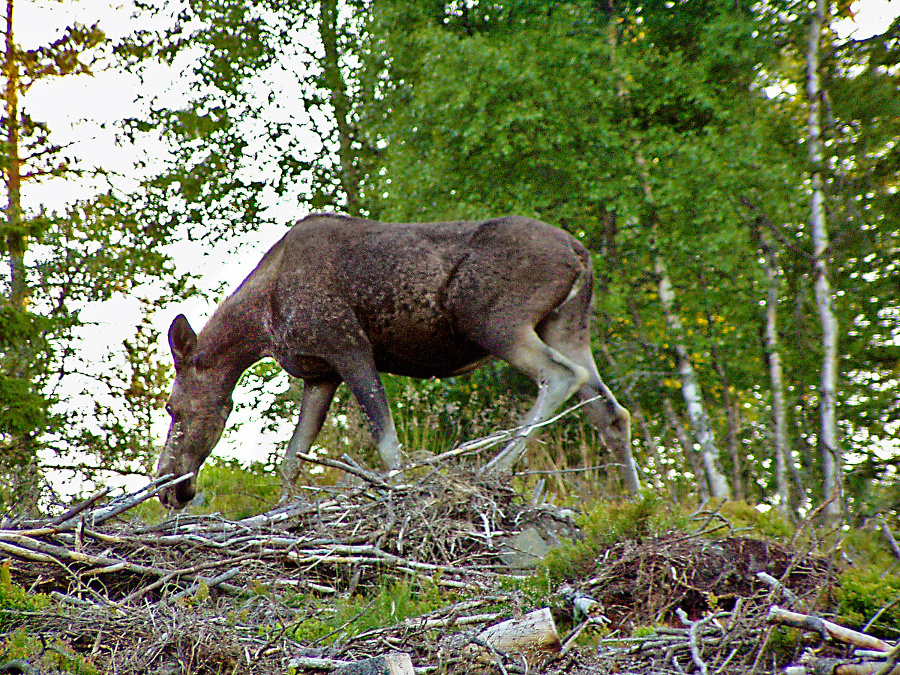
[[[337, 210], [516, 213], [579, 237], [597, 360], [652, 489], [896, 514], [900, 21], [855, 39], [835, 30], [854, 6], [824, 0], [150, 0], [122, 39], [73, 23], [23, 48], [6, 9], [2, 510], [30, 508], [48, 476], [88, 489], [152, 471], [171, 377], [160, 327], [230, 290], [197, 256], [247, 273], [256, 255], [236, 242]], [[28, 112], [32, 87], [101, 68], [174, 75], [114, 125], [127, 171]], [[100, 189], [28, 200], [60, 179]], [[124, 298], [139, 324], [98, 356]], [[239, 385], [237, 419], [280, 430], [234, 435], [264, 464], [297, 412], [277, 370]], [[406, 448], [435, 451], [512, 426], [533, 394], [499, 364], [387, 385]], [[364, 439], [345, 394], [317, 451]], [[562, 492], [576, 467], [621, 491], [577, 415], [530, 456]]]

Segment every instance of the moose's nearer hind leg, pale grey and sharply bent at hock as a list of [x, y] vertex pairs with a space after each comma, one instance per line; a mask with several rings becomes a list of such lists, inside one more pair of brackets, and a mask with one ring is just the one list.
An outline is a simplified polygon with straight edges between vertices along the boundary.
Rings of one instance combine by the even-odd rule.
[[550, 419], [554, 411], [587, 381], [586, 368], [546, 344], [529, 329], [501, 358], [527, 373], [538, 385], [534, 406], [522, 420], [515, 438], [490, 462], [482, 473], [511, 471], [525, 452], [528, 438]]

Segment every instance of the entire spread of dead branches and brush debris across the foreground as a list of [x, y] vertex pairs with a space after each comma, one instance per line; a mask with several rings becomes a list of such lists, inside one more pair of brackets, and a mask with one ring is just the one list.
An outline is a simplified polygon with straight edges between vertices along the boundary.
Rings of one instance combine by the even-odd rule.
[[[483, 643], [487, 627], [536, 609], [522, 580], [541, 574], [508, 566], [510, 542], [529, 528], [551, 542], [577, 538], [571, 512], [434, 471], [410, 485], [322, 490], [237, 521], [127, 519], [162, 487], [105, 503], [103, 492], [52, 519], [3, 519], [0, 564], [52, 603], [0, 610], [0, 637], [25, 627], [122, 674], [340, 672], [390, 652], [409, 654], [417, 673], [779, 672], [766, 650], [770, 608], [814, 607], [833, 581], [822, 558], [708, 529], [622, 541], [544, 591], [571, 630], [552, 656], [527, 661]], [[371, 627], [363, 601], [331, 634], [307, 637], [337, 599], [415, 581], [438, 589], [437, 608]], [[46, 672], [4, 656], [0, 672]]]

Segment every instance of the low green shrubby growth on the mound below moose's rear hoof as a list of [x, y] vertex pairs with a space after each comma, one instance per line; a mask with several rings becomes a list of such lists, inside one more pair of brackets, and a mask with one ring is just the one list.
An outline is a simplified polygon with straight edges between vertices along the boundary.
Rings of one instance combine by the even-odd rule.
[[579, 538], [551, 549], [545, 564], [553, 582], [577, 578], [593, 569], [604, 549], [626, 540], [652, 538], [687, 529], [677, 506], [645, 494], [639, 501], [597, 502], [578, 517]]

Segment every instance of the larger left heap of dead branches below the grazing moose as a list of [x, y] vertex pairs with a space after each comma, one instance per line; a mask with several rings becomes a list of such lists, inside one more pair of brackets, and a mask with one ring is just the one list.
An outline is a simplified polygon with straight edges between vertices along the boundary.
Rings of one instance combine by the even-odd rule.
[[[500, 589], [512, 573], [501, 560], [510, 535], [535, 523], [571, 527], [509, 488], [437, 473], [411, 485], [322, 490], [238, 521], [122, 521], [167, 484], [101, 504], [104, 491], [53, 519], [0, 522], [0, 562], [11, 561], [14, 582], [58, 603], [17, 619], [62, 636], [110, 673], [286, 672], [292, 660], [329, 670], [399, 647], [437, 659], [447, 648], [429, 644], [435, 631], [476, 636], [518, 602]], [[411, 579], [461, 599], [383, 630], [349, 621], [337, 647], [296, 639], [331, 598]], [[298, 599], [306, 597], [319, 606]], [[468, 640], [454, 640], [440, 658], [467, 662]]]

